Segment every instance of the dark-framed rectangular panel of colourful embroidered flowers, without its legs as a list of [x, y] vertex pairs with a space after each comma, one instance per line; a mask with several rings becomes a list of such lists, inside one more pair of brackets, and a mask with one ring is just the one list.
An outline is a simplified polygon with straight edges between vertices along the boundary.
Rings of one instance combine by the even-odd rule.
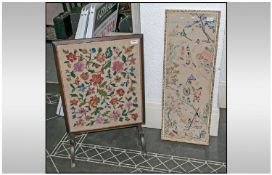
[[69, 132], [144, 122], [142, 48], [142, 35], [54, 42]]

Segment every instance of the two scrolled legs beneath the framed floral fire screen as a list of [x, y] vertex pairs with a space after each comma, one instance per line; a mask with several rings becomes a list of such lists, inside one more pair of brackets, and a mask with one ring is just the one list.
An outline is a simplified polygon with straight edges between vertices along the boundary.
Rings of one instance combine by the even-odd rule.
[[[145, 139], [144, 139], [144, 131], [142, 128], [142, 125], [139, 124], [136, 126], [136, 130], [137, 130], [137, 135], [138, 135], [138, 139], [139, 142], [141, 143], [141, 148], [142, 148], [142, 154], [144, 157], [147, 157], [147, 151], [146, 151], [146, 144], [145, 144]], [[71, 159], [71, 168], [76, 167], [76, 163], [75, 163], [75, 150], [76, 150], [76, 142], [75, 142], [75, 134], [74, 133], [70, 133], [69, 134], [69, 138], [70, 138], [70, 159]]]

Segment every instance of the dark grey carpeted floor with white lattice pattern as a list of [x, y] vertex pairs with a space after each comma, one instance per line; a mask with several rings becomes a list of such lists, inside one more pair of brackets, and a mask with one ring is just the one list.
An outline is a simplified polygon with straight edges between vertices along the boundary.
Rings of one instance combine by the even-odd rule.
[[[57, 84], [47, 84], [47, 173], [226, 173], [226, 111], [221, 110], [219, 136], [209, 146], [162, 141], [160, 130], [144, 128], [147, 157], [141, 154], [135, 128], [76, 137], [76, 167], [70, 168], [64, 119], [55, 114]], [[158, 146], [159, 145], [159, 146]]]

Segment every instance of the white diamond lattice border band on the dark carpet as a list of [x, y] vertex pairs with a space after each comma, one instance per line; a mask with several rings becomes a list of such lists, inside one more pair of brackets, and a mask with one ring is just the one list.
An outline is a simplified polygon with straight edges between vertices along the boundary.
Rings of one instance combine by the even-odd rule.
[[[133, 169], [131, 173], [226, 173], [226, 164], [210, 160], [192, 159], [148, 152], [82, 143], [86, 134], [76, 136], [76, 161], [92, 162]], [[51, 157], [70, 159], [68, 134], [50, 154]]]

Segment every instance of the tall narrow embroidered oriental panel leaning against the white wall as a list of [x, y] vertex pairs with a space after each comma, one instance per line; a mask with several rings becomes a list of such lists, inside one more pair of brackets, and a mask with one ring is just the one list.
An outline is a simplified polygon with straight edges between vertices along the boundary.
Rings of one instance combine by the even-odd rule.
[[209, 144], [219, 11], [166, 10], [164, 140]]

